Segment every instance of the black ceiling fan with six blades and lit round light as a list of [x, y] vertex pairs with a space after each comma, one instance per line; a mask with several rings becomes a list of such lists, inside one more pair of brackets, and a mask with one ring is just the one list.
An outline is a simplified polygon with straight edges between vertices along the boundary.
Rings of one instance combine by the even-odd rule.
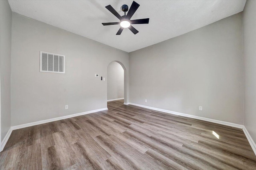
[[[133, 16], [133, 14], [136, 12], [136, 10], [139, 8], [139, 4], [135, 1], [132, 2], [132, 6], [130, 7], [130, 10], [128, 11], [127, 5], [122, 5], [122, 11], [124, 12], [124, 16], [120, 16], [116, 10], [111, 5], [106, 6], [106, 8], [116, 16], [120, 22], [107, 22], [102, 23], [102, 25], [118, 25], [120, 24], [120, 29], [117, 31], [116, 35], [120, 35], [124, 28], [130, 29], [134, 34], [138, 33], [139, 31], [135, 29], [131, 24], [142, 24], [142, 23], [148, 23], [149, 18], [139, 19], [139, 20], [130, 20]], [[126, 12], [128, 11], [127, 15]]]

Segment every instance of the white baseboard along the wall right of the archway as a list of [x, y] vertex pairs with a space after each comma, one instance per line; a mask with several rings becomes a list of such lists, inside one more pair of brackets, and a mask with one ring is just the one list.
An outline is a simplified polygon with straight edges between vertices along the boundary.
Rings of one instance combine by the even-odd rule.
[[174, 115], [190, 117], [190, 118], [194, 118], [194, 119], [209, 121], [209, 122], [212, 122], [212, 123], [218, 123], [218, 124], [221, 124], [221, 125], [227, 125], [227, 126], [231, 126], [231, 127], [237, 127], [237, 128], [240, 128], [240, 129], [242, 129], [244, 127], [244, 125], [239, 125], [239, 124], [236, 124], [236, 123], [230, 123], [230, 122], [226, 122], [226, 121], [209, 119], [209, 118], [206, 118], [206, 117], [188, 115], [188, 114], [179, 113], [179, 112], [176, 112], [176, 111], [170, 111], [170, 110], [165, 110], [165, 109], [158, 109], [158, 108], [155, 108], [155, 107], [149, 107], [149, 106], [144, 106], [144, 105], [140, 105], [140, 104], [134, 104], [134, 103], [129, 103], [129, 104], [130, 105], [134, 105], [134, 106], [144, 107], [144, 108], [147, 108], [147, 109], [156, 110], [156, 111], [162, 111], [164, 113], [170, 113], [170, 114], [174, 114]]

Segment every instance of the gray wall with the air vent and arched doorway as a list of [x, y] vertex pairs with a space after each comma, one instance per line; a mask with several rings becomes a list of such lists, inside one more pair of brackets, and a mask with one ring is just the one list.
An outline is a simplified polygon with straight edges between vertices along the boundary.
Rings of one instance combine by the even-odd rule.
[[[39, 72], [39, 51], [65, 55], [66, 73]], [[112, 61], [125, 66], [129, 93], [128, 53], [13, 13], [12, 126], [107, 107], [107, 81], [94, 74], [106, 78]]]

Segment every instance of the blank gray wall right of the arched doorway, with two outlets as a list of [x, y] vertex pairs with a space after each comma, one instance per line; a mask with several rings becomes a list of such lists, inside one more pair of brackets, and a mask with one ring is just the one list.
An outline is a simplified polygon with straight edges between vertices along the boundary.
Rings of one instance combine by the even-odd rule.
[[241, 13], [129, 56], [131, 103], [244, 123]]

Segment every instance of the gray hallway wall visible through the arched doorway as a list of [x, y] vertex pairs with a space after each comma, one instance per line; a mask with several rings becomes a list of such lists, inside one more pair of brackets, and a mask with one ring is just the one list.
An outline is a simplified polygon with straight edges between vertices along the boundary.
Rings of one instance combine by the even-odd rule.
[[108, 65], [108, 100], [124, 98], [124, 69], [117, 62]]

